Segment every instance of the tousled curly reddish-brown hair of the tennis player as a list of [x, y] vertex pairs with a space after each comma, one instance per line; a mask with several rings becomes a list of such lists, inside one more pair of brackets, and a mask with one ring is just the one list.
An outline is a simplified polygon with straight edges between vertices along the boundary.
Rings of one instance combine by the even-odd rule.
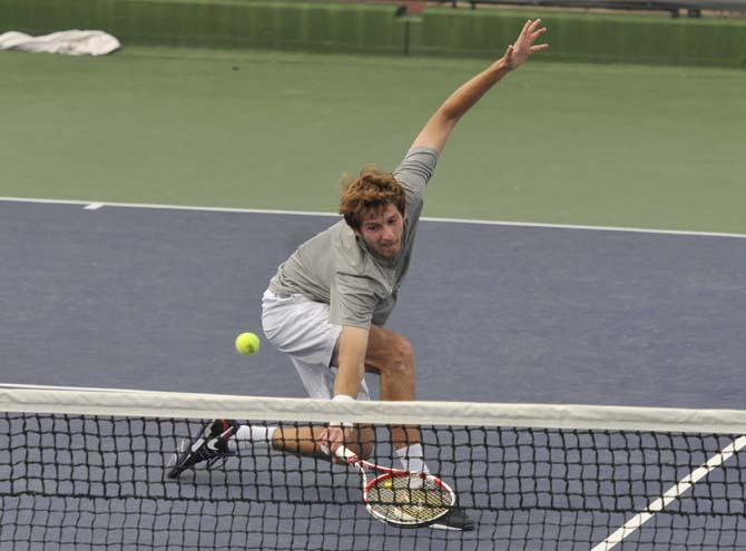
[[391, 173], [366, 165], [359, 176], [343, 178], [340, 214], [351, 228], [360, 230], [365, 216], [381, 214], [389, 204], [404, 216], [404, 188]]

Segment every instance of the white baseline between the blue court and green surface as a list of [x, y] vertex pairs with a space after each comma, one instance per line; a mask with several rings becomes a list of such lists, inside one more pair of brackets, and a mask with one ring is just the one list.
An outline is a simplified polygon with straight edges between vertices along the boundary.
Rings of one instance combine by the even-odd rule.
[[[42, 205], [78, 205], [86, 210], [99, 210], [105, 207], [112, 208], [141, 208], [141, 209], [161, 209], [161, 210], [193, 210], [204, 213], [235, 213], [235, 214], [272, 214], [272, 215], [287, 215], [287, 216], [318, 216], [318, 217], [334, 217], [340, 218], [336, 213], [321, 213], [314, 210], [277, 210], [277, 209], [261, 209], [261, 208], [232, 208], [232, 207], [204, 207], [192, 205], [164, 205], [156, 203], [116, 203], [116, 201], [96, 201], [96, 200], [78, 200], [78, 199], [39, 199], [31, 197], [0, 197], [2, 203], [33, 203]], [[530, 227], [530, 228], [548, 228], [548, 229], [579, 229], [586, 232], [618, 232], [630, 234], [658, 234], [658, 235], [678, 235], [678, 236], [697, 236], [697, 237], [728, 237], [736, 239], [746, 239], [746, 234], [735, 234], [725, 232], [695, 232], [686, 229], [655, 229], [655, 228], [636, 228], [622, 226], [587, 226], [573, 224], [546, 224], [532, 222], [512, 222], [512, 220], [484, 220], [484, 219], [469, 219], [469, 218], [438, 218], [423, 216], [420, 218], [423, 222], [438, 222], [445, 224], [471, 224], [482, 226], [510, 226], [510, 227]]]

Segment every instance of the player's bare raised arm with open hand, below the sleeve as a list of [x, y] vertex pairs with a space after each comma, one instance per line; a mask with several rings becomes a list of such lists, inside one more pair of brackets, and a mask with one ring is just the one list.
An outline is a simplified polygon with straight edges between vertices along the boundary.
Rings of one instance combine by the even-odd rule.
[[426, 146], [441, 151], [451, 130], [459, 119], [480, 100], [509, 71], [526, 62], [534, 51], [546, 50], [549, 45], [536, 45], [537, 39], [547, 32], [540, 28], [541, 19], [528, 20], [516, 43], [505, 50], [505, 55], [479, 75], [461, 85], [430, 118], [414, 139], [412, 147]]

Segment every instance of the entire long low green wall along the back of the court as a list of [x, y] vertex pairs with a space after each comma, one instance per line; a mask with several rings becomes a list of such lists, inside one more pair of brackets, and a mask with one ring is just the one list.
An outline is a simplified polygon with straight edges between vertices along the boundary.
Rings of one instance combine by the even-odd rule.
[[[122, 45], [261, 48], [494, 58], [529, 11], [242, 0], [2, 0], [0, 31], [40, 35], [101, 29]], [[598, 13], [541, 14], [542, 58], [591, 62], [746, 68], [746, 21]]]

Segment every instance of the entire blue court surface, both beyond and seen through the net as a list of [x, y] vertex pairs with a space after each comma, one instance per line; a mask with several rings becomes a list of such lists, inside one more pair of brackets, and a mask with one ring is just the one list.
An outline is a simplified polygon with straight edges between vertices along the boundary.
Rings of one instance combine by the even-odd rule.
[[[259, 354], [242, 357], [233, 340], [244, 329], [259, 332], [259, 297], [276, 265], [333, 217], [12, 200], [0, 203], [0, 211], [8, 237], [0, 279], [6, 384], [304, 395], [281, 354], [265, 343]], [[421, 400], [737, 409], [746, 352], [743, 243], [737, 235], [423, 222], [391, 327], [415, 346]], [[45, 541], [24, 516], [41, 506], [61, 542], [47, 549], [81, 542], [86, 549], [359, 549], [363, 541], [382, 550], [578, 549], [628, 520], [617, 508], [645, 509], [646, 496], [665, 492], [729, 443], [727, 436], [673, 435], [661, 443], [646, 432], [477, 429], [453, 432], [443, 446], [438, 430], [423, 430], [425, 445], [443, 450], [441, 475], [457, 481], [464, 506], [480, 511], [475, 532], [433, 535], [366, 519], [364, 508], [350, 506], [357, 476], [338, 466], [252, 452], [229, 468], [164, 483], [163, 456], [198, 424], [169, 425], [160, 437], [148, 421], [90, 423], [8, 421], [8, 464], [19, 462], [12, 439], [22, 433], [31, 450], [69, 440], [67, 461], [82, 453], [86, 465], [71, 471], [67, 488], [47, 480], [65, 473], [43, 466], [46, 452], [23, 452], [30, 466], [21, 475], [29, 480], [6, 498], [19, 541], [26, 530], [30, 541]], [[108, 436], [96, 432], [101, 426]], [[70, 431], [86, 434], [85, 453], [66, 436]], [[390, 451], [381, 441], [376, 453], [385, 462]], [[140, 463], [125, 468], [134, 476], [128, 484], [106, 464], [130, 455]], [[727, 457], [726, 466], [734, 461]], [[648, 464], [656, 461], [668, 466]], [[595, 480], [605, 472], [614, 482]], [[690, 534], [701, 532], [696, 549], [742, 549], [739, 516], [732, 515], [743, 490], [736, 480], [733, 471], [714, 470], [708, 484], [673, 505], [710, 513], [694, 516], [694, 524], [659, 513], [655, 530], [636, 530], [631, 544], [694, 547]], [[46, 495], [49, 484], [73, 493], [82, 484], [85, 498], [30, 496]], [[104, 511], [90, 504], [99, 494]], [[310, 496], [313, 503], [304, 501]], [[84, 511], [75, 529], [68, 508]], [[134, 510], [138, 520], [130, 525]], [[718, 510], [728, 515], [710, 516]], [[334, 534], [315, 518], [336, 525]]]

